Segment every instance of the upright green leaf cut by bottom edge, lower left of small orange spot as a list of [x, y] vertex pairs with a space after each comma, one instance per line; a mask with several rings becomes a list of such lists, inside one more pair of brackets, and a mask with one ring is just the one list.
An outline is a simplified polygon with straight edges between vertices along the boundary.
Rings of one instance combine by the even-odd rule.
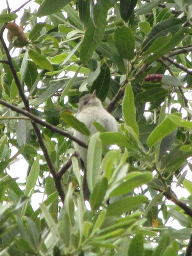
[[143, 256], [144, 255], [144, 245], [142, 234], [136, 234], [131, 240], [128, 247], [127, 256]]

